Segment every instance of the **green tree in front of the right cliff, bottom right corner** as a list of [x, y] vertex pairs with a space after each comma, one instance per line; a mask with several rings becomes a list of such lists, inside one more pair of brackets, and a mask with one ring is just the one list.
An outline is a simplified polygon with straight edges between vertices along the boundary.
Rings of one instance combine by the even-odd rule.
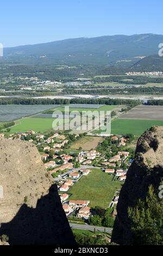
[[129, 207], [131, 231], [136, 245], [163, 245], [163, 199], [154, 192], [153, 186], [145, 200], [140, 199], [135, 207]]

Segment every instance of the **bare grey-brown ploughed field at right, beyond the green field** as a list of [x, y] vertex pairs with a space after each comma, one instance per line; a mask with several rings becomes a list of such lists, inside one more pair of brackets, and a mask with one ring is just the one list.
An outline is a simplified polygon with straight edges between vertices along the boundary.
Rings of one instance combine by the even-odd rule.
[[124, 119], [163, 120], [163, 106], [139, 105], [122, 115]]

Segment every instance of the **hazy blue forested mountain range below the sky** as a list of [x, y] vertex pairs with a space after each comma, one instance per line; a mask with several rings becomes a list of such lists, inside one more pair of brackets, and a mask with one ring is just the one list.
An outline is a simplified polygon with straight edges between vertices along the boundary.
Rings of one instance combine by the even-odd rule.
[[4, 48], [3, 60], [23, 64], [133, 67], [136, 63], [141, 66], [149, 56], [158, 56], [160, 43], [163, 43], [163, 35], [158, 34], [66, 39]]

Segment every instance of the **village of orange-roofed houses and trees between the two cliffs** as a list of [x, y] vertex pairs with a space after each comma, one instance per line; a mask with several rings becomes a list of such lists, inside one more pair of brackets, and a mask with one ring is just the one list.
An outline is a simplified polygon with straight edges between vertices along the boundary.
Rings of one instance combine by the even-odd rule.
[[[0, 134], [1, 138], [3, 136], [4, 134]], [[74, 138], [80, 139], [80, 136], [77, 134], [74, 135]], [[104, 172], [105, 175], [112, 176], [112, 182], [117, 181], [123, 184], [126, 181], [128, 168], [132, 161], [128, 151], [119, 150], [116, 154], [111, 152], [112, 156], [110, 158], [106, 157], [104, 152], [98, 152], [96, 149], [83, 150], [79, 148], [78, 151], [74, 152], [67, 147], [71, 142], [68, 140], [68, 136], [66, 138], [66, 135], [59, 132], [39, 134], [31, 130], [27, 133], [12, 134], [9, 139], [27, 140], [36, 144], [47, 175], [52, 175], [58, 186], [58, 192], [66, 216], [74, 216], [84, 221], [96, 215], [96, 211], [90, 206], [89, 192], [87, 198], [79, 197], [77, 200], [72, 200], [72, 187], [76, 186], [83, 177], [89, 176], [93, 172], [93, 168]], [[119, 149], [125, 147], [128, 143], [124, 136], [112, 135], [110, 140]], [[119, 191], [115, 191], [112, 200], [108, 201], [108, 207], [112, 209], [112, 217], [116, 217], [118, 194]]]

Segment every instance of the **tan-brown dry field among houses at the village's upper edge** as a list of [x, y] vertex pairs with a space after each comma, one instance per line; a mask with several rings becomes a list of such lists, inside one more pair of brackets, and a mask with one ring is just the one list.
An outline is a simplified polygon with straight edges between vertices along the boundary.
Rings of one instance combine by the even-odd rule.
[[79, 147], [82, 147], [83, 150], [91, 150], [92, 148], [95, 149], [101, 141], [102, 138], [86, 136], [75, 142], [71, 146], [71, 149], [78, 150]]

